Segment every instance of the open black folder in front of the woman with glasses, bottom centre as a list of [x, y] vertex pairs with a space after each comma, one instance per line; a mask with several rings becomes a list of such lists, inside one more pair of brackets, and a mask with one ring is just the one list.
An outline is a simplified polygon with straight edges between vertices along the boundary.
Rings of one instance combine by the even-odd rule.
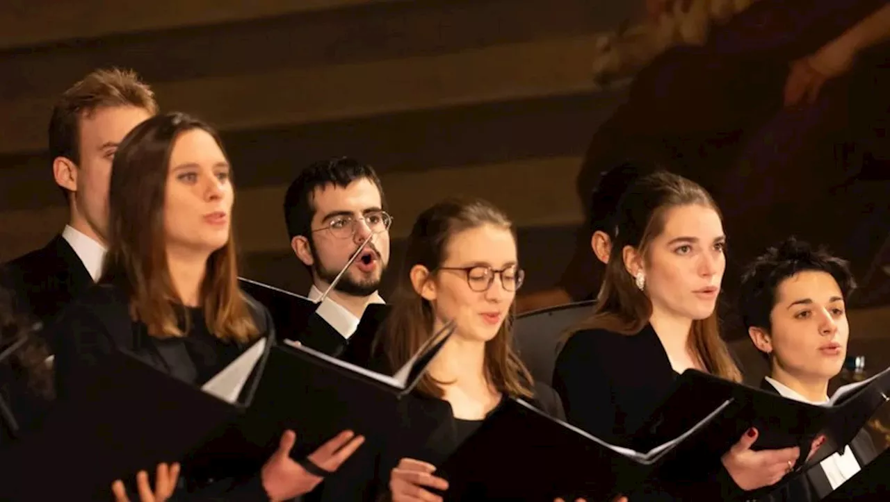
[[615, 446], [552, 418], [520, 399], [505, 398], [436, 475], [448, 500], [611, 500], [673, 461], [678, 445], [719, 417], [711, 410], [679, 437], [645, 453]]

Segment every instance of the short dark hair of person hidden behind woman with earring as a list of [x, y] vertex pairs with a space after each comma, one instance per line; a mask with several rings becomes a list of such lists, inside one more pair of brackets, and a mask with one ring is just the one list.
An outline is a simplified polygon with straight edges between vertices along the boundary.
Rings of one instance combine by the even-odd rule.
[[627, 191], [635, 179], [657, 171], [664, 171], [659, 163], [625, 159], [608, 171], [603, 171], [599, 182], [590, 195], [590, 233], [602, 231], [615, 237], [618, 220], [615, 210], [621, 195]]

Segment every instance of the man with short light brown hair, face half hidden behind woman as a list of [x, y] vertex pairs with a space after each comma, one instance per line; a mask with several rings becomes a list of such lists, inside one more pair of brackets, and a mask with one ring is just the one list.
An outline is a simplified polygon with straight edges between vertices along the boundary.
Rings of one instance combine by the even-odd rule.
[[111, 163], [126, 133], [157, 113], [149, 85], [117, 68], [93, 71], [56, 102], [49, 153], [69, 221], [43, 248], [7, 264], [20, 308], [37, 321], [48, 323], [101, 275]]

